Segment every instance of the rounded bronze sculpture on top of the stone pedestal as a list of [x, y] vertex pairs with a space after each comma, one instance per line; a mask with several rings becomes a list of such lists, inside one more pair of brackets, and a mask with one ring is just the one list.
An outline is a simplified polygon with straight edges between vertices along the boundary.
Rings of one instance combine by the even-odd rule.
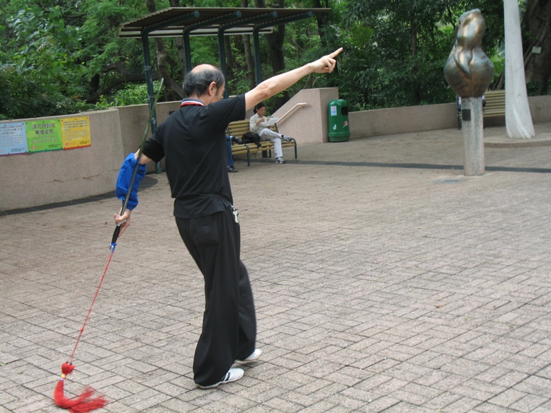
[[448, 85], [461, 97], [482, 96], [494, 76], [494, 64], [481, 48], [486, 23], [479, 9], [461, 14], [455, 44], [444, 67]]

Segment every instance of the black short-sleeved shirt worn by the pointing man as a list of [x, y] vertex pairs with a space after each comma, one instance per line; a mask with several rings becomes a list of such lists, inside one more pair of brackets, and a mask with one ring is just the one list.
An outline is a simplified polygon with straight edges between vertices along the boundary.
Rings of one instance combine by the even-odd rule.
[[176, 218], [198, 218], [233, 203], [227, 172], [226, 127], [245, 119], [245, 95], [205, 106], [182, 100], [180, 109], [159, 125], [143, 153], [165, 158]]

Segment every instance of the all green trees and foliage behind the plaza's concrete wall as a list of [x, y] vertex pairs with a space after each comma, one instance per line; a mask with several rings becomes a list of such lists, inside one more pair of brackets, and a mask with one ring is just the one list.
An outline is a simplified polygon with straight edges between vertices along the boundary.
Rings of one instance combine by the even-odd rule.
[[[182, 6], [240, 7], [240, 0], [199, 3], [180, 2]], [[325, 1], [295, 0], [292, 6], [320, 4]], [[157, 10], [169, 7], [169, 1], [156, 0], [156, 6]], [[276, 4], [267, 1], [267, 6]], [[472, 8], [480, 8], [486, 19], [483, 49], [495, 64], [496, 77], [503, 71], [501, 1], [329, 0], [329, 7], [320, 28], [316, 19], [285, 27], [287, 70], [344, 47], [333, 74], [306, 76], [291, 87], [291, 96], [302, 88], [339, 87], [351, 110], [453, 101], [454, 94], [444, 80], [444, 63], [457, 19]], [[112, 87], [123, 77], [121, 67], [143, 74], [141, 41], [118, 39], [116, 29], [147, 14], [145, 1], [0, 0], [0, 13], [0, 118], [68, 114], [147, 101], [144, 82]], [[178, 62], [175, 39], [163, 42], [169, 60]], [[150, 44], [155, 65], [153, 41]], [[231, 48], [233, 76], [227, 89], [229, 94], [238, 94], [250, 87], [243, 37], [232, 36]], [[263, 78], [273, 75], [270, 58], [267, 41], [261, 36]], [[216, 36], [191, 37], [191, 59], [192, 65], [219, 65]], [[171, 63], [169, 72], [177, 83], [183, 78], [177, 64]], [[272, 112], [273, 102], [267, 102]]]

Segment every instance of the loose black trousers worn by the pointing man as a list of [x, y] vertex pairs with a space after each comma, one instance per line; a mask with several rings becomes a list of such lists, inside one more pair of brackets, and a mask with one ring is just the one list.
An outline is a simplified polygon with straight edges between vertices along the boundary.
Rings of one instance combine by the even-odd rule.
[[205, 279], [194, 379], [211, 385], [255, 348], [256, 315], [247, 268], [240, 260], [240, 226], [231, 207], [206, 217], [176, 218], [176, 224]]

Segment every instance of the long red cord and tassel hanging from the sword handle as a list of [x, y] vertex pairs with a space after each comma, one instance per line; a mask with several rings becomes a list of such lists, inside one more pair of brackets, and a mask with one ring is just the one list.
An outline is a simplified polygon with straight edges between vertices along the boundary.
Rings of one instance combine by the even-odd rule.
[[90, 306], [90, 310], [88, 310], [88, 314], [86, 315], [86, 318], [84, 320], [84, 324], [81, 328], [79, 338], [76, 339], [76, 344], [74, 345], [71, 357], [69, 357], [69, 360], [67, 361], [67, 363], [63, 363], [63, 365], [61, 366], [61, 378], [57, 382], [56, 388], [54, 390], [54, 402], [56, 403], [56, 405], [58, 405], [59, 407], [63, 407], [63, 409], [69, 410], [71, 413], [92, 412], [92, 410], [101, 409], [101, 407], [107, 404], [107, 400], [103, 396], [98, 396], [95, 399], [92, 399], [92, 396], [94, 395], [95, 390], [90, 387], [86, 387], [83, 393], [80, 396], [76, 397], [75, 399], [68, 399], [67, 397], [65, 397], [63, 385], [65, 383], [65, 377], [67, 377], [67, 374], [70, 374], [74, 370], [74, 366], [72, 365], [71, 361], [73, 359], [74, 352], [76, 351], [76, 346], [78, 346], [79, 341], [81, 341], [82, 333], [84, 332], [84, 327], [86, 326], [86, 322], [88, 321], [88, 318], [90, 318], [90, 313], [92, 313], [92, 307], [94, 306], [94, 303], [96, 302], [96, 298], [98, 297], [99, 289], [101, 288], [103, 279], [105, 279], [105, 273], [107, 273], [107, 268], [109, 268], [109, 264], [111, 262], [111, 258], [113, 257], [113, 253], [114, 253], [114, 248], [112, 248], [109, 261], [107, 261], [107, 266], [105, 266], [105, 271], [103, 271], [103, 277], [101, 277], [101, 281], [99, 282], [98, 289], [96, 290], [96, 295], [94, 295], [94, 299], [92, 300], [92, 305]]

